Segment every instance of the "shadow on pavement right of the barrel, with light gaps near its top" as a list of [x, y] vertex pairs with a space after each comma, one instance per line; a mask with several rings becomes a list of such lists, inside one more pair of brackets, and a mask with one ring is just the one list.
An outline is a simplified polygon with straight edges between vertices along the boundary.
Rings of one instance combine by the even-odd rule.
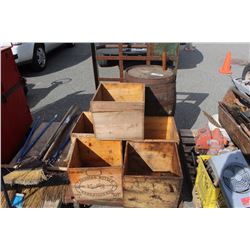
[[177, 92], [175, 121], [178, 129], [192, 128], [201, 112], [199, 105], [208, 96], [208, 93]]

